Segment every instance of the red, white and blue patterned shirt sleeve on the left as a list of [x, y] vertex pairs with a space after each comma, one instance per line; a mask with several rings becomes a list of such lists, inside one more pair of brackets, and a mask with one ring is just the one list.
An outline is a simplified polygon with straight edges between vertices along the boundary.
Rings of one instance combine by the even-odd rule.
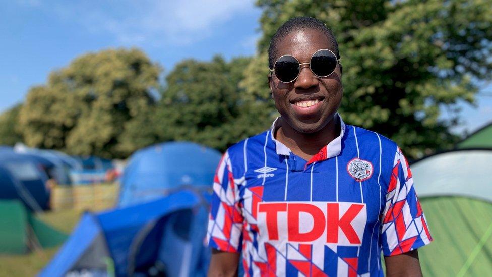
[[207, 240], [210, 247], [240, 252], [243, 216], [228, 152], [215, 172]]

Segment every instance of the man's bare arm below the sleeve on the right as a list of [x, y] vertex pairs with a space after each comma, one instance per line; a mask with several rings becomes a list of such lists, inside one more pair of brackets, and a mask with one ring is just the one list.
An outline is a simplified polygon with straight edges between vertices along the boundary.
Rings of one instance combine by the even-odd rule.
[[385, 257], [386, 276], [422, 276], [417, 249]]

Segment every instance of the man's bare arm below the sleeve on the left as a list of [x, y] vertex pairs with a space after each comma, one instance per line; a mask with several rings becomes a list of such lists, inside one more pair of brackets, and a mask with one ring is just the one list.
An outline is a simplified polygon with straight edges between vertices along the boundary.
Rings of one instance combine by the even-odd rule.
[[220, 251], [212, 248], [212, 258], [207, 276], [237, 276], [239, 253]]

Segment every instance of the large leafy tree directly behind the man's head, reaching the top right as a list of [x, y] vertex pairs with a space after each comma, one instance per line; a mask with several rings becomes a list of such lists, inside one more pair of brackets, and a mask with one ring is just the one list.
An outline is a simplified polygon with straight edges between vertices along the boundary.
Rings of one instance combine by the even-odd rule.
[[[269, 97], [266, 52], [294, 16], [327, 24], [340, 46], [347, 123], [395, 140], [409, 157], [451, 147], [456, 103], [473, 103], [478, 80], [492, 78], [490, 0], [258, 0], [263, 36], [243, 84]], [[261, 66], [262, 70], [259, 70]], [[258, 85], [261, 84], [261, 85]], [[440, 118], [440, 107], [454, 114]]]

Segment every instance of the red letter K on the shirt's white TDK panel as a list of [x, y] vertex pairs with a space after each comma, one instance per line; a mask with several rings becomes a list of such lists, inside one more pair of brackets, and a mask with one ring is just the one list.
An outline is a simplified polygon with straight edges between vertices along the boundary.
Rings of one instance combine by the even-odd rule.
[[352, 204], [345, 214], [339, 217], [338, 203], [327, 203], [326, 242], [338, 243], [338, 227], [340, 227], [350, 243], [360, 244], [360, 239], [351, 223], [363, 207], [362, 204]]

